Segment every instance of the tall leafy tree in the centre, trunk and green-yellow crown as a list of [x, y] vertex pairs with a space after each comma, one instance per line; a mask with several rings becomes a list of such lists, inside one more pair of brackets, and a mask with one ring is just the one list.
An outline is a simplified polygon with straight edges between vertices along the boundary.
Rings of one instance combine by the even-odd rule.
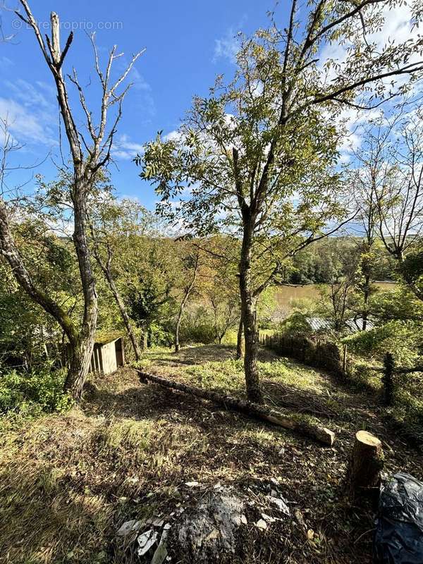
[[[313, 0], [298, 10], [293, 0], [287, 28], [272, 25], [245, 39], [232, 82], [219, 77], [209, 97], [194, 99], [179, 139], [159, 135], [136, 159], [142, 178], [156, 185], [164, 215], [174, 215], [170, 200], [183, 200], [188, 190], [189, 199], [179, 206], [186, 228], [200, 234], [226, 229], [242, 241], [240, 299], [250, 400], [262, 401], [258, 296], [280, 278], [287, 259], [335, 231], [325, 227], [345, 216], [333, 170], [339, 112], [357, 105], [360, 93], [365, 106], [379, 103], [385, 93], [395, 93], [396, 75], [422, 71], [422, 61], [410, 62], [418, 41], [380, 48], [369, 38], [383, 26], [383, 9], [392, 4]], [[343, 60], [325, 59], [323, 47], [330, 42], [348, 43]], [[258, 260], [264, 270], [255, 276]]]

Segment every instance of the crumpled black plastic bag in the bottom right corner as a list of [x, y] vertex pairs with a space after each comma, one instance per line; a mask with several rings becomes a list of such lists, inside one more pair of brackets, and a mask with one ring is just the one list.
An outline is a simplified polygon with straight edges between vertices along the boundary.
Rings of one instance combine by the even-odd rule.
[[423, 564], [423, 484], [410, 474], [395, 474], [381, 486], [374, 562]]

